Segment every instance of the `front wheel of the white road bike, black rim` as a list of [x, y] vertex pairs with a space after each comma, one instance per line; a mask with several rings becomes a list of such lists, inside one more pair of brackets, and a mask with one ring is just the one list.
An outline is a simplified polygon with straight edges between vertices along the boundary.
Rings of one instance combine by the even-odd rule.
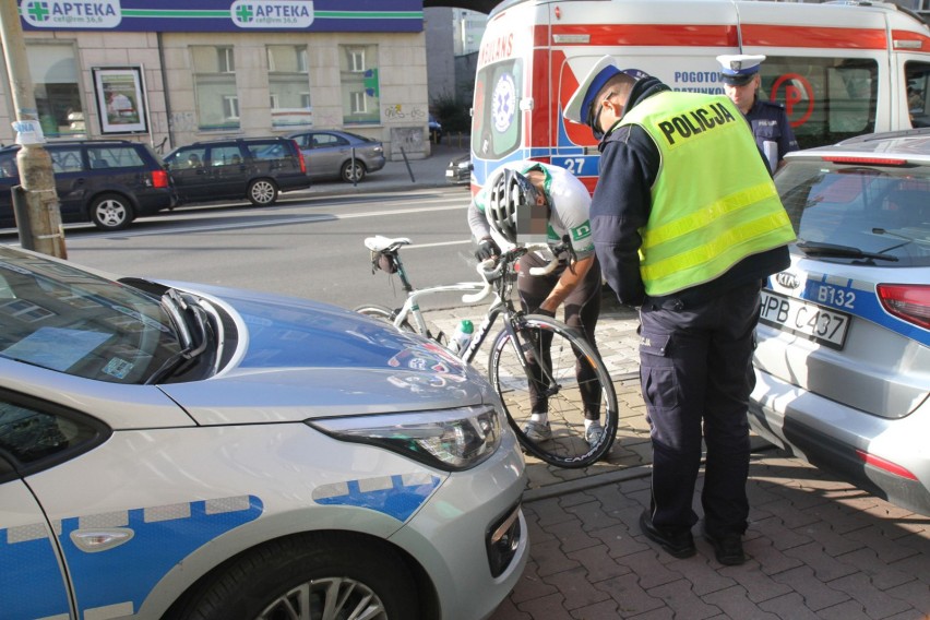
[[[610, 451], [619, 412], [613, 382], [604, 360], [584, 337], [560, 321], [528, 314], [513, 321], [514, 339], [498, 334], [488, 365], [510, 426], [523, 448], [550, 465], [581, 468]], [[585, 412], [596, 414], [604, 433], [585, 440]], [[526, 424], [548, 414], [551, 437], [534, 441]]]

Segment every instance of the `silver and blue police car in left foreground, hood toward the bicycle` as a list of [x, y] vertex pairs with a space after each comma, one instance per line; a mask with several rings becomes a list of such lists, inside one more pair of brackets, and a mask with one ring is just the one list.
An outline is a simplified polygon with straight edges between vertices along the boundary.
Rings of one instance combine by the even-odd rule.
[[0, 246], [0, 617], [479, 620], [528, 555], [499, 400], [335, 307]]

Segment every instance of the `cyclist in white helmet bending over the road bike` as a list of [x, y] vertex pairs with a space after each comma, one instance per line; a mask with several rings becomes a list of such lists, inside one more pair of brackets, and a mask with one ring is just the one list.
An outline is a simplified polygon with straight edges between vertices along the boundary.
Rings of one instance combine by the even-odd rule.
[[[516, 282], [525, 312], [555, 317], [564, 306], [564, 322], [582, 332], [597, 348], [594, 329], [600, 315], [600, 266], [591, 238], [591, 194], [574, 175], [539, 162], [511, 162], [494, 170], [468, 208], [468, 226], [478, 248], [478, 260], [494, 258], [501, 247], [535, 242], [534, 234], [550, 247], [565, 242], [569, 259], [561, 259], [548, 275], [530, 275], [530, 267], [545, 266], [550, 252], [529, 252], [520, 259]], [[537, 233], [538, 231], [538, 233]], [[541, 238], [538, 239], [541, 241]], [[542, 351], [548, 351], [551, 334], [542, 334]], [[592, 446], [600, 441], [600, 395], [589, 365], [576, 363], [585, 410], [585, 440]], [[591, 377], [588, 377], [591, 374]], [[532, 441], [552, 437], [545, 394], [530, 386], [532, 416], [524, 433]]]

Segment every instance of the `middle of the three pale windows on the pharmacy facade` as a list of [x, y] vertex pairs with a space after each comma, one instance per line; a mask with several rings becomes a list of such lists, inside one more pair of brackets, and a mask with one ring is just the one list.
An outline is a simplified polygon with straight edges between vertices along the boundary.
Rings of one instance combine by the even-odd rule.
[[307, 46], [270, 45], [266, 50], [272, 127], [289, 129], [312, 126]]

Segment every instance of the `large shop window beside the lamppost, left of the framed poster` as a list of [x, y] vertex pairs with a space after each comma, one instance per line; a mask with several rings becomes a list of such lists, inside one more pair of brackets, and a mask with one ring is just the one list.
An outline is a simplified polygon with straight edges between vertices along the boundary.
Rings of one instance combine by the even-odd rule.
[[33, 95], [46, 138], [86, 136], [76, 57], [71, 44], [26, 46]]

